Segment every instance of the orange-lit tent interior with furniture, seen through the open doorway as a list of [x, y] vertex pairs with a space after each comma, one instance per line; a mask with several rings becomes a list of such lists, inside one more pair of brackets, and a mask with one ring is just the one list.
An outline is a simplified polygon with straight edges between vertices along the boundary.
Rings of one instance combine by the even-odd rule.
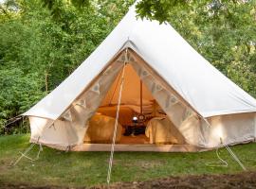
[[102, 98], [100, 107], [89, 119], [83, 144], [112, 144], [119, 105], [116, 144], [186, 145], [184, 137], [134, 67], [130, 63], [123, 67]]

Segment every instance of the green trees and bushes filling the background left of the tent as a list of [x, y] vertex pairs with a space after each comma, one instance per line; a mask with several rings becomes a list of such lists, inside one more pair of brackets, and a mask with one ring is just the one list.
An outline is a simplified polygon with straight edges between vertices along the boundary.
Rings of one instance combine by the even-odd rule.
[[76, 9], [58, 2], [58, 16], [39, 0], [1, 5], [0, 134], [9, 118], [26, 112], [70, 75], [131, 5], [101, 1]]

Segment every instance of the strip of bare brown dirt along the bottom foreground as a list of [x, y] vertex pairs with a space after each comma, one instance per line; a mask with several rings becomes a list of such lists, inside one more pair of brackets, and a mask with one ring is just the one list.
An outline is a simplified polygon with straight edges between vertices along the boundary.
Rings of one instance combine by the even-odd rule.
[[[7, 184], [0, 180], [0, 189], [71, 189], [68, 187], [58, 186], [38, 186], [32, 187], [27, 184]], [[85, 187], [81, 187], [81, 189]], [[90, 189], [107, 189], [105, 185], [94, 186]], [[256, 172], [243, 172], [240, 174], [224, 174], [224, 175], [200, 175], [186, 177], [169, 177], [159, 180], [119, 182], [110, 185], [111, 189], [226, 189], [226, 188], [256, 188]]]

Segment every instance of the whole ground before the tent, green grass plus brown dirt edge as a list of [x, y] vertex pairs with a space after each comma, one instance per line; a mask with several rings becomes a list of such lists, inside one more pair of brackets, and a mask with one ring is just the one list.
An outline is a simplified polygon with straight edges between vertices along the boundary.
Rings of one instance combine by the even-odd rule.
[[[29, 135], [0, 137], [0, 188], [105, 187], [108, 152], [62, 152], [44, 146], [39, 160], [23, 159], [12, 166], [19, 151], [29, 146], [28, 138]], [[241, 184], [255, 188], [255, 147], [252, 143], [232, 147], [247, 172], [242, 172], [224, 148], [220, 149], [220, 155], [229, 163], [228, 167], [206, 164], [218, 161], [214, 150], [199, 153], [117, 152], [111, 188], [172, 188], [174, 185], [177, 188], [229, 188]], [[29, 157], [35, 157], [37, 151], [38, 146]]]

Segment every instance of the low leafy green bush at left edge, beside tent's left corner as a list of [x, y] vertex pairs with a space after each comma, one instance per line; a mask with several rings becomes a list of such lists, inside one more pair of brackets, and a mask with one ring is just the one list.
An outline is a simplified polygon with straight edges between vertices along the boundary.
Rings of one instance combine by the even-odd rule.
[[[4, 134], [7, 119], [26, 112], [45, 94], [37, 73], [25, 75], [18, 68], [0, 70], [0, 80], [0, 89], [3, 89], [0, 91], [0, 134]], [[20, 127], [21, 131], [27, 130], [27, 125]], [[11, 129], [11, 132], [17, 133], [19, 130]]]

